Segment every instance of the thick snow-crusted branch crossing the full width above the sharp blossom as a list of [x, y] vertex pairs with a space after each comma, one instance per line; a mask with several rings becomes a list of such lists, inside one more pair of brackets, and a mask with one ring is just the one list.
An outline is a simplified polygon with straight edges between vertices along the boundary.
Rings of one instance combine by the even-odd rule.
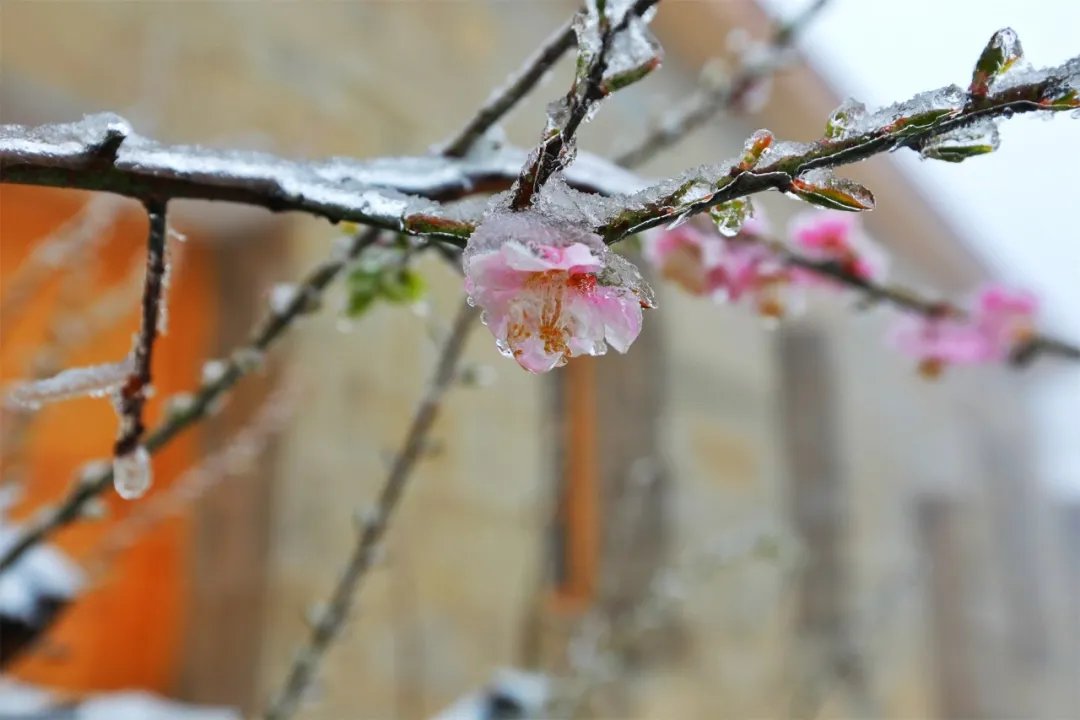
[[[1013, 70], [978, 99], [949, 85], [873, 113], [841, 106], [826, 136], [815, 142], [772, 142], [753, 167], [739, 161], [705, 165], [637, 192], [644, 184], [635, 176], [611, 163], [582, 157], [563, 177], [568, 191], [549, 199], [549, 206], [610, 243], [766, 190], [825, 200], [835, 193], [814, 188], [831, 178], [820, 174], [815, 178], [811, 171], [827, 171], [900, 148], [956, 161], [993, 150], [993, 123], [999, 119], [1078, 107], [1080, 57], [1040, 70]], [[140, 199], [198, 198], [300, 210], [334, 221], [431, 234], [460, 246], [482, 212], [435, 201], [504, 190], [524, 160], [521, 150], [508, 148], [475, 160], [430, 155], [303, 163], [265, 153], [164, 146], [130, 128], [118, 140], [118, 126], [127, 127], [116, 116], [91, 116], [78, 123], [42, 127], [0, 126], [2, 179]], [[841, 196], [838, 202], [847, 201]]]

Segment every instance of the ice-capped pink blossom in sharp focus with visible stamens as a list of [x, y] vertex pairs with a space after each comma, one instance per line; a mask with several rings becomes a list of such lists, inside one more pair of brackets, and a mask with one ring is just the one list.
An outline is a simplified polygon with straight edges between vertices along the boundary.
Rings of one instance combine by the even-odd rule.
[[653, 307], [637, 269], [599, 236], [542, 215], [497, 213], [465, 249], [465, 291], [502, 354], [530, 372], [624, 353]]

